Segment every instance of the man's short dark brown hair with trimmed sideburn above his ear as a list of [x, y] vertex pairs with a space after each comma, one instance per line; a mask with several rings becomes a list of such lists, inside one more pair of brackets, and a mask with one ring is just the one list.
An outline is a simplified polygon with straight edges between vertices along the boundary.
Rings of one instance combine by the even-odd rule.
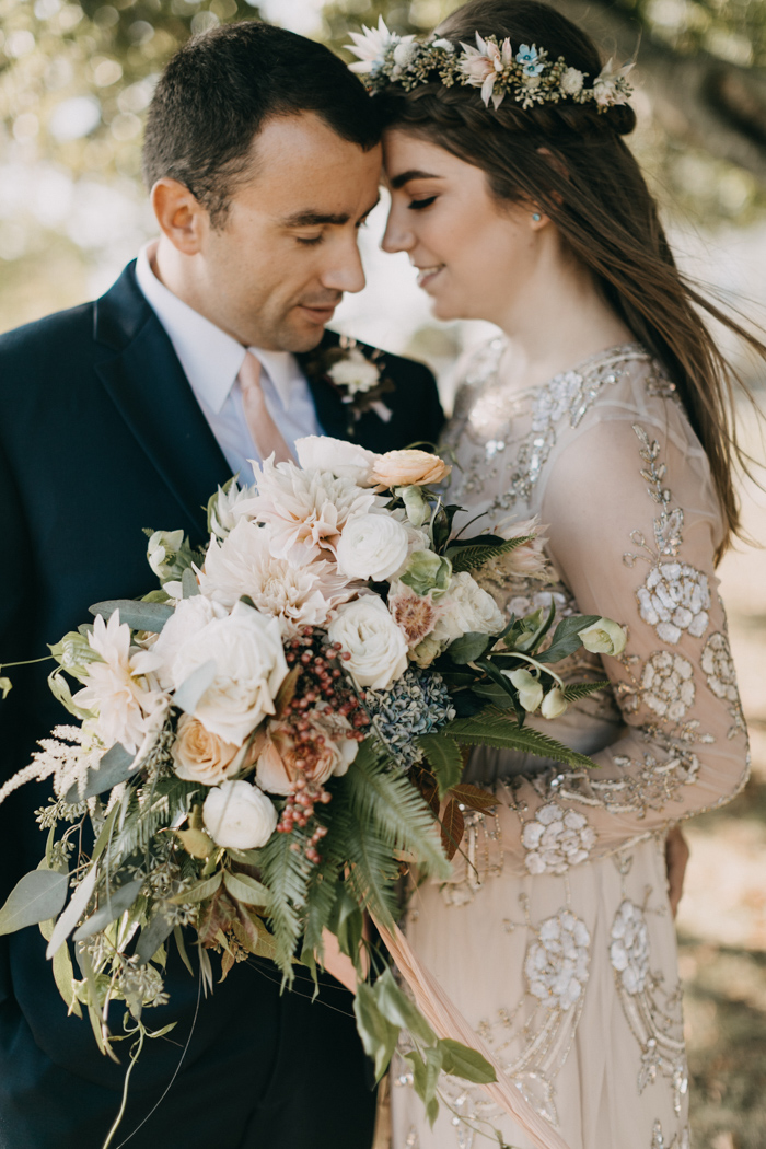
[[223, 222], [250, 145], [274, 116], [314, 111], [365, 152], [379, 142], [378, 107], [328, 48], [258, 20], [224, 24], [189, 40], [154, 93], [144, 141], [144, 179], [177, 179]]

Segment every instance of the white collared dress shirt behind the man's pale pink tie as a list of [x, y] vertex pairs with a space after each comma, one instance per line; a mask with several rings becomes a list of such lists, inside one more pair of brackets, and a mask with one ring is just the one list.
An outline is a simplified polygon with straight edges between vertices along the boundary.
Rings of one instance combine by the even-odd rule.
[[264, 352], [242, 347], [215, 323], [206, 319], [161, 283], [152, 270], [156, 240], [141, 248], [136, 278], [149, 307], [165, 329], [194, 396], [218, 441], [232, 475], [242, 484], [253, 481], [248, 460], [261, 462], [253, 442], [237, 376], [247, 352], [263, 368], [261, 381], [269, 414], [293, 450], [302, 435], [322, 434], [309, 385], [289, 352]]

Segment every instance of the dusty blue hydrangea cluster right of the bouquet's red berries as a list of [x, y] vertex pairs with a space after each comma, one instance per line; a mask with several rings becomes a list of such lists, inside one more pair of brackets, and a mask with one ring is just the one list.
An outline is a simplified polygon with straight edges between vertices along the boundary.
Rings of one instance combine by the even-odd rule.
[[367, 691], [365, 707], [402, 770], [423, 758], [418, 734], [434, 733], [455, 717], [441, 674], [417, 666], [405, 670], [388, 691]]

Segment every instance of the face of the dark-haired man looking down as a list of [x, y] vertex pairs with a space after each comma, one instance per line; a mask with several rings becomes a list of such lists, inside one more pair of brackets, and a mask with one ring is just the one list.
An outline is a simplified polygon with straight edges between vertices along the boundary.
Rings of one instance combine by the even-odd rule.
[[312, 113], [270, 119], [254, 163], [195, 261], [199, 309], [241, 344], [310, 350], [343, 292], [364, 287], [358, 229], [378, 200], [381, 151]]

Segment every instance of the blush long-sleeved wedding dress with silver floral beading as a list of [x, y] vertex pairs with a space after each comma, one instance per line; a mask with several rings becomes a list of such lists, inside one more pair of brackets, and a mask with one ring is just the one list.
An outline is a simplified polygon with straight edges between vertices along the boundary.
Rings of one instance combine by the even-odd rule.
[[[421, 886], [405, 930], [475, 1032], [571, 1149], [689, 1149], [687, 1066], [664, 839], [728, 801], [748, 742], [713, 554], [721, 516], [673, 384], [639, 346], [510, 391], [504, 341], [470, 361], [447, 441], [449, 492], [482, 529], [539, 515], [559, 581], [481, 576], [501, 607], [556, 603], [628, 629], [619, 657], [580, 651], [572, 680], [609, 689], [532, 725], [589, 754], [568, 770], [488, 747], [467, 777], [451, 881]], [[405, 1050], [403, 1050], [405, 1051]], [[479, 1087], [442, 1078], [433, 1129], [394, 1065], [394, 1149], [532, 1142]], [[463, 1118], [461, 1120], [459, 1118]], [[482, 1133], [489, 1133], [485, 1139]]]

